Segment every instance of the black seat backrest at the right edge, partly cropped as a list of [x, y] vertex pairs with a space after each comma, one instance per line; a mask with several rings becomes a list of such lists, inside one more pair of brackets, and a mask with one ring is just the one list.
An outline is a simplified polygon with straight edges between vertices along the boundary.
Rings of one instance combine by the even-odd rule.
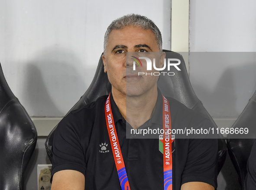
[[247, 174], [247, 161], [250, 156], [253, 143], [256, 139], [256, 92], [237, 118], [232, 128], [237, 131], [248, 128], [248, 134], [229, 134], [227, 136], [227, 149], [231, 161], [237, 171], [239, 182], [244, 190], [244, 182]]

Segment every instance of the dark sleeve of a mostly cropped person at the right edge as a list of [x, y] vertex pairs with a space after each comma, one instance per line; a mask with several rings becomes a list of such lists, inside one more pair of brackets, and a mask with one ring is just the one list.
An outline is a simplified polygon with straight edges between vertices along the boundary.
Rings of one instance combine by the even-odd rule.
[[245, 178], [245, 190], [256, 190], [256, 141], [253, 144], [251, 154], [247, 162], [247, 175]]

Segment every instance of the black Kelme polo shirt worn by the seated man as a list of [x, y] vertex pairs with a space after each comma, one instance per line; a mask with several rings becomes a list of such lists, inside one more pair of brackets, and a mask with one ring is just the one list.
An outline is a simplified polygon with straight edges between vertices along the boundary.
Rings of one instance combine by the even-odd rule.
[[[121, 190], [108, 136], [104, 105], [107, 96], [71, 111], [58, 124], [53, 142], [52, 176], [61, 170], [76, 170], [85, 176], [85, 190]], [[213, 127], [211, 122], [173, 98], [170, 104], [172, 128]], [[163, 154], [159, 139], [126, 138], [131, 128], [110, 95], [113, 120], [131, 190], [163, 190]], [[160, 117], [160, 120], [158, 119]], [[150, 120], [162, 128], [162, 95]], [[138, 128], [138, 129], [139, 129]], [[173, 190], [187, 182], [204, 182], [217, 188], [217, 139], [175, 139], [172, 142]]]

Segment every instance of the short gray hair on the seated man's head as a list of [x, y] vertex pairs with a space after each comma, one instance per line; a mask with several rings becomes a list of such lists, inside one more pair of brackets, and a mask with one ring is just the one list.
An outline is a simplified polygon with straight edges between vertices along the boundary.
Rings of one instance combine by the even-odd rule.
[[111, 31], [123, 29], [126, 26], [139, 26], [145, 30], [150, 29], [156, 36], [156, 43], [158, 44], [159, 51], [162, 52], [162, 35], [155, 23], [146, 16], [128, 14], [112, 21], [107, 27], [107, 31], [104, 36], [104, 54], [106, 54], [107, 41]]

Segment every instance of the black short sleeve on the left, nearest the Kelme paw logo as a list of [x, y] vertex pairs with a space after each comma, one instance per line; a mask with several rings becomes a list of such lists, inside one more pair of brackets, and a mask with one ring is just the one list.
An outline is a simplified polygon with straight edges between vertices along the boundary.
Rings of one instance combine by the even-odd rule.
[[85, 175], [85, 151], [81, 146], [80, 135], [81, 123], [74, 114], [69, 113], [55, 130], [52, 146], [52, 176], [61, 170], [75, 170]]

